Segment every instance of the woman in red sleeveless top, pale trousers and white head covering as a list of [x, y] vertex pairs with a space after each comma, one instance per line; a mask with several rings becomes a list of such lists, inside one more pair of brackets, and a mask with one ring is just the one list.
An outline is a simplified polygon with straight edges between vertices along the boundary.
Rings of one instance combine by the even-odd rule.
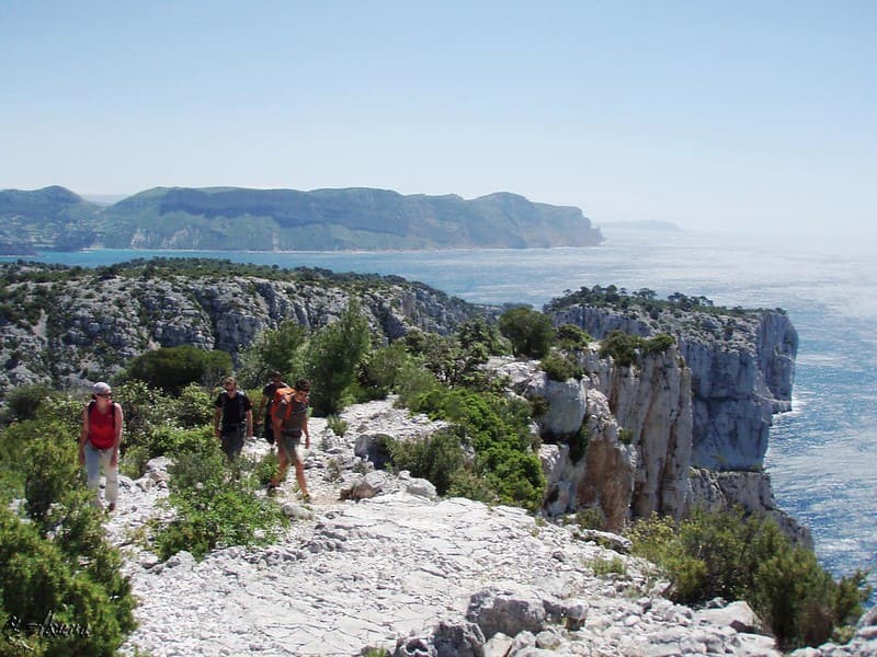
[[91, 390], [91, 401], [82, 411], [82, 430], [79, 434], [79, 464], [86, 466], [88, 487], [94, 491], [92, 504], [101, 508], [99, 486], [101, 466], [106, 477], [106, 510], [116, 510], [118, 502], [118, 448], [122, 446], [122, 425], [125, 419], [122, 406], [113, 401], [107, 383], [99, 381]]

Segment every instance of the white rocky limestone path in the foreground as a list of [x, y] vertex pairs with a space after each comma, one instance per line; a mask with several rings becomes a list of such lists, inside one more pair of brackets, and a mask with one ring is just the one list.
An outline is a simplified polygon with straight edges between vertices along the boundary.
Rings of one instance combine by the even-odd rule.
[[343, 439], [311, 420], [312, 499], [300, 503], [294, 484], [285, 485], [281, 500], [293, 523], [269, 548], [218, 550], [201, 563], [183, 552], [158, 563], [132, 537], [167, 494], [161, 469], [123, 482], [107, 531], [126, 552], [139, 600], [139, 629], [123, 654], [778, 655], [770, 638], [748, 632], [747, 609], [675, 606], [658, 595], [661, 583], [646, 564], [571, 527], [510, 507], [438, 500], [428, 483], [385, 473], [368, 475], [374, 497], [340, 502], [340, 489], [363, 479], [353, 468], [356, 437], [434, 428], [388, 402], [342, 417]]

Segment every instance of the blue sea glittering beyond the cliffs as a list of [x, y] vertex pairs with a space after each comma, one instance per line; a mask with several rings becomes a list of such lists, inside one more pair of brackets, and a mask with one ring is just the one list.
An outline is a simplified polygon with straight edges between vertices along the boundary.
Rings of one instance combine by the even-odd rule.
[[765, 468], [779, 507], [810, 527], [822, 565], [835, 577], [869, 570], [877, 588], [877, 258], [870, 242], [610, 226], [603, 234], [600, 246], [576, 249], [95, 250], [29, 260], [96, 267], [141, 257], [216, 257], [323, 267], [398, 275], [472, 303], [536, 309], [594, 285], [785, 309], [799, 337], [793, 410], [774, 416]]

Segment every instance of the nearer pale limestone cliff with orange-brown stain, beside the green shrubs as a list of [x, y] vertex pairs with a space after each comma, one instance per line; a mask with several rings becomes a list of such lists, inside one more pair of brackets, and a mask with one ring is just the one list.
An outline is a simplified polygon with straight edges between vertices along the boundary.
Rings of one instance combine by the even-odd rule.
[[548, 476], [546, 509], [597, 508], [619, 529], [630, 514], [679, 518], [688, 494], [692, 447], [691, 376], [676, 349], [642, 367], [616, 367], [596, 348], [582, 356], [586, 374], [558, 382], [538, 364], [494, 360], [512, 390], [544, 400], [537, 430]]

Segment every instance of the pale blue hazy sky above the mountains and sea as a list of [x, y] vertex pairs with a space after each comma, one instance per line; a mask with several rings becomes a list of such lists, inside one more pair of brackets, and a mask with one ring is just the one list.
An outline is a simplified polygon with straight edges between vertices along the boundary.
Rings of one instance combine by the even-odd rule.
[[0, 188], [877, 235], [877, 2], [0, 0]]

